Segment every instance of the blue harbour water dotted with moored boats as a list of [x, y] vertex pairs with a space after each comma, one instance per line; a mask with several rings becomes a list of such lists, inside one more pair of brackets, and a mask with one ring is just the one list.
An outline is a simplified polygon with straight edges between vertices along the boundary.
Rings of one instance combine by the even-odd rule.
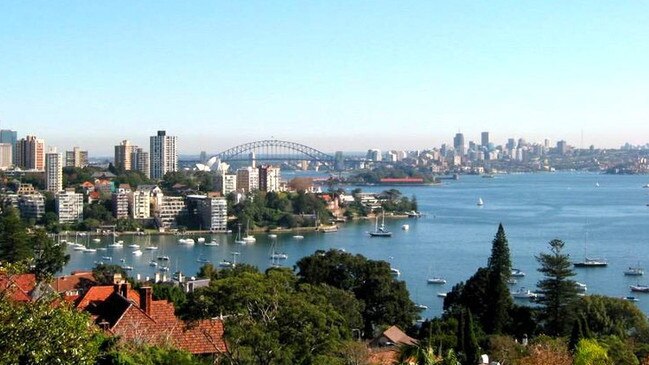
[[[640, 263], [649, 269], [649, 182], [645, 176], [613, 176], [589, 173], [511, 174], [493, 179], [462, 176], [458, 181], [444, 181], [441, 186], [400, 187], [405, 196], [415, 195], [419, 208], [426, 216], [419, 219], [386, 219], [394, 232], [392, 238], [371, 238], [366, 232], [373, 221], [351, 222], [341, 226], [337, 233], [308, 233], [303, 240], [292, 238], [293, 233], [280, 234], [279, 251], [288, 253], [283, 265], [292, 267], [301, 257], [318, 249], [342, 248], [372, 259], [386, 260], [400, 270], [400, 280], [408, 284], [414, 301], [428, 306], [423, 316], [441, 313], [442, 299], [438, 292], [450, 290], [454, 283], [466, 280], [475, 270], [486, 265], [491, 241], [498, 223], [503, 223], [514, 267], [527, 273], [520, 287], [534, 289], [540, 275], [535, 255], [548, 251], [548, 242], [554, 238], [566, 242], [565, 251], [574, 261], [586, 253], [603, 257], [606, 268], [576, 269], [576, 280], [588, 285], [588, 293], [616, 297], [630, 295], [629, 285], [649, 283], [649, 278], [629, 278], [623, 270]], [[599, 184], [599, 186], [596, 186]], [[349, 188], [351, 190], [352, 188]], [[381, 191], [385, 187], [363, 187], [364, 191]], [[484, 206], [478, 207], [478, 198]], [[410, 230], [400, 229], [409, 224]], [[144, 251], [133, 257], [132, 249], [124, 247], [113, 252], [88, 254], [70, 249], [72, 256], [65, 271], [87, 269], [102, 255], [112, 255], [119, 264], [134, 267], [133, 275], [153, 276], [155, 268], [148, 265], [152, 257], [171, 257], [171, 271], [181, 269], [188, 275], [201, 266], [197, 258], [205, 257], [214, 264], [232, 259], [238, 251], [238, 262], [246, 262], [265, 269], [272, 240], [265, 234], [257, 235], [255, 244], [234, 244], [232, 235], [204, 236], [220, 243], [216, 247], [200, 244], [179, 245], [179, 237], [153, 236], [158, 251]], [[194, 237], [196, 238], [196, 237]], [[121, 238], [124, 244], [142, 238]], [[106, 241], [92, 244], [105, 246]], [[443, 276], [446, 285], [429, 285], [430, 276]], [[640, 297], [637, 305], [649, 313], [649, 294]]]

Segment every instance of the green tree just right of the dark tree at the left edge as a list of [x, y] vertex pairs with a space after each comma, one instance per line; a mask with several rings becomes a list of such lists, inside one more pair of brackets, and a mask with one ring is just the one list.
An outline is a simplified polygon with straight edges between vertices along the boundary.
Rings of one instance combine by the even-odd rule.
[[42, 229], [37, 229], [30, 237], [34, 245], [34, 268], [37, 280], [51, 278], [70, 261], [65, 247], [47, 236]]

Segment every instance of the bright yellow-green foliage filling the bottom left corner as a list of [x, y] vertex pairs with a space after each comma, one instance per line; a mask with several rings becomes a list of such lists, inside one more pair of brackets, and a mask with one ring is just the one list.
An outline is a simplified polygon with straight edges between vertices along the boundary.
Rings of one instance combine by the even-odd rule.
[[89, 323], [65, 305], [0, 298], [0, 363], [94, 364], [100, 336]]

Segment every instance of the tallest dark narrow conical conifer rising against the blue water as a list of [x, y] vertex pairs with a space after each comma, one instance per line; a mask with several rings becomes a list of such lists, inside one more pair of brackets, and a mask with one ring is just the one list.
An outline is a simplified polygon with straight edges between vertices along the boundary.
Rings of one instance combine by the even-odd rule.
[[509, 322], [509, 310], [512, 298], [507, 286], [511, 276], [512, 263], [503, 225], [498, 225], [498, 232], [491, 246], [491, 256], [487, 264], [489, 270], [486, 315], [483, 318], [487, 333], [502, 333]]

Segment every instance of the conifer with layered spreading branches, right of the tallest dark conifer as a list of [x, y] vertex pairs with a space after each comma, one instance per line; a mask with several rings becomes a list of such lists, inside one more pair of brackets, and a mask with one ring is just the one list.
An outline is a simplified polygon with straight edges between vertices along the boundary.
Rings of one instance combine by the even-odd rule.
[[549, 335], [567, 335], [574, 318], [577, 288], [570, 277], [575, 273], [571, 268], [569, 256], [562, 253], [564, 243], [555, 239], [550, 241], [551, 254], [541, 253], [536, 257], [541, 267], [538, 269], [545, 279], [538, 282], [542, 296], [539, 298], [540, 317]]

